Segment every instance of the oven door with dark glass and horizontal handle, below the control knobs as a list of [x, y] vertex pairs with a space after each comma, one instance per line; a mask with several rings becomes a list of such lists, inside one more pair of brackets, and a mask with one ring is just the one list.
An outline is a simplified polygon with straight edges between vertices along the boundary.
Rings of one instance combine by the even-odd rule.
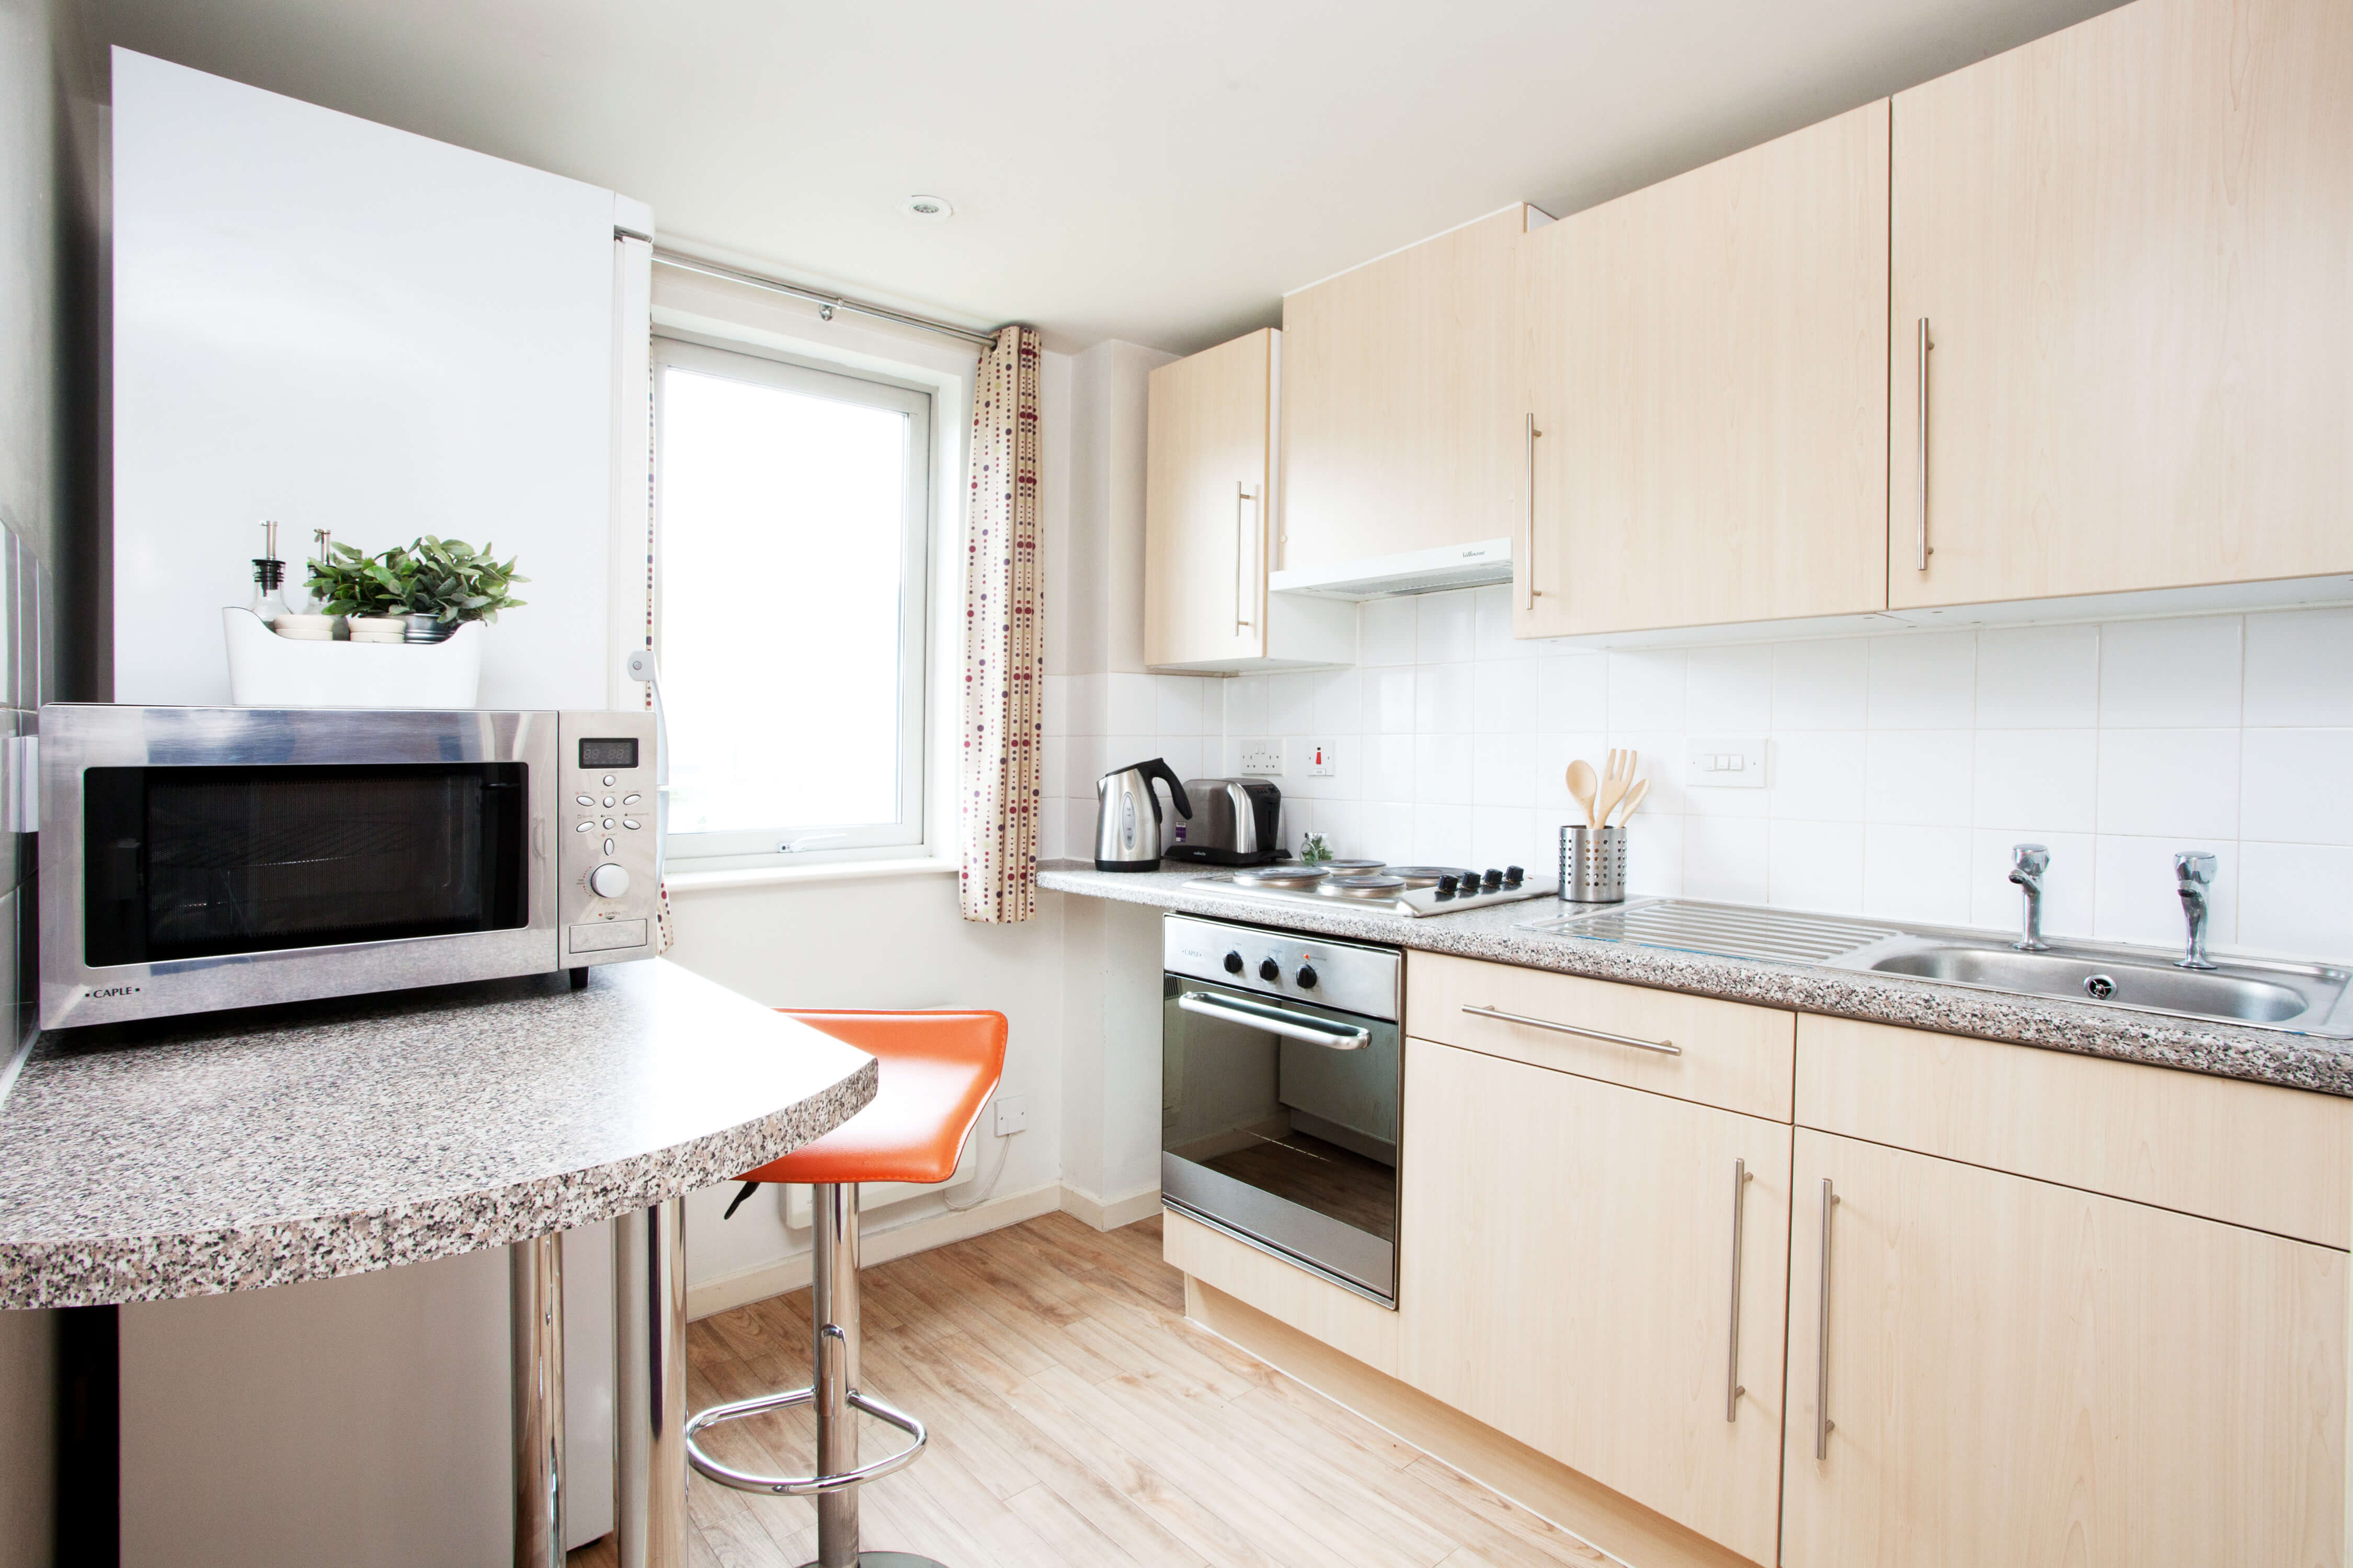
[[1398, 1026], [1162, 975], [1160, 1196], [1398, 1302]]

